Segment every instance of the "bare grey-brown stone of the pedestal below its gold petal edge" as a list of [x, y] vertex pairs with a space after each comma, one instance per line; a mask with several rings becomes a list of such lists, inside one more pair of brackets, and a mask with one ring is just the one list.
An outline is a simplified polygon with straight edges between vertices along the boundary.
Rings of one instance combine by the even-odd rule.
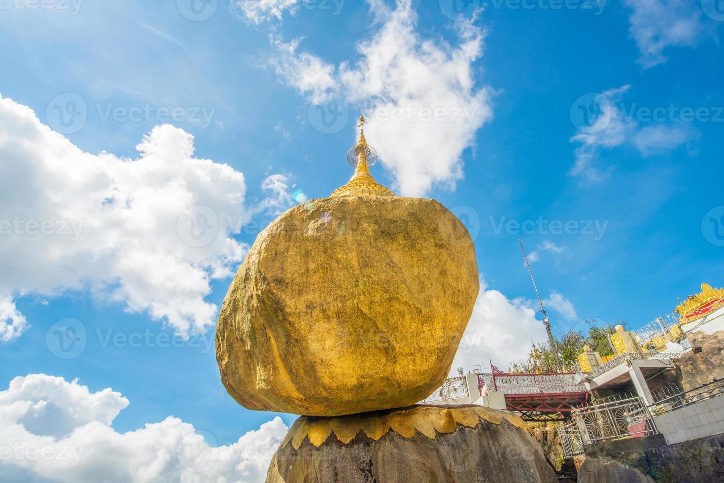
[[364, 434], [344, 445], [334, 437], [315, 448], [308, 439], [294, 450], [279, 448], [267, 483], [554, 483], [557, 479], [538, 442], [503, 421], [458, 426], [435, 440], [387, 432]]

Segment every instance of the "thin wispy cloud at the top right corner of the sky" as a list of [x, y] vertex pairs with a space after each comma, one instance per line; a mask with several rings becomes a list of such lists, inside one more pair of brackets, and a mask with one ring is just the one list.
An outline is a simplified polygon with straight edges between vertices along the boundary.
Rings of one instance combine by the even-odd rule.
[[695, 46], [704, 32], [702, 10], [691, 0], [624, 0], [632, 12], [628, 31], [644, 67], [666, 62], [667, 47]]

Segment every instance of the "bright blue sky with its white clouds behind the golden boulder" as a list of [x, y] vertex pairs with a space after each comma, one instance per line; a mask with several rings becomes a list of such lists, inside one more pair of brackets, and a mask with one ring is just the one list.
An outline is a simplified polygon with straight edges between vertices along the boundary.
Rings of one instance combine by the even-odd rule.
[[[722, 285], [721, 0], [193, 2], [0, 2], [0, 381], [25, 378], [0, 406], [58, 398], [5, 437], [101, 424], [112, 453], [161, 421], [227, 450], [252, 432], [253, 455], [211, 471], [263, 478], [295, 416], [226, 394], [216, 314], [259, 227], [348, 180], [360, 114], [376, 179], [473, 235], [482, 290], [454, 366], [544, 339], [518, 238], [559, 334]], [[213, 240], [184, 231], [199, 215]], [[106, 413], [47, 422], [106, 388]], [[0, 471], [78, 481], [98, 458]], [[188, 471], [174, 458], [159, 481]]]

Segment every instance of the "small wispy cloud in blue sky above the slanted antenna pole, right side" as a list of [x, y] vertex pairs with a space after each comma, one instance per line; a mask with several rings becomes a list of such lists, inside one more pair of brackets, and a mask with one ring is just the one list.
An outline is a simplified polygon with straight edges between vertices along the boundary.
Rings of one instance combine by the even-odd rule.
[[[630, 85], [623, 85], [579, 98], [580, 105], [575, 107], [585, 113], [578, 119], [581, 124], [577, 126], [578, 133], [571, 138], [571, 142], [579, 143], [579, 146], [569, 175], [586, 182], [600, 182], [610, 177], [615, 169], [615, 166], [603, 169], [598, 166], [602, 151], [629, 144], [637, 148], [641, 156], [650, 156], [671, 151], [698, 136], [694, 127], [682, 125], [678, 119], [662, 119], [655, 121], [655, 125], [641, 127], [637, 119], [644, 118], [640, 107], [635, 103], [626, 106], [622, 100], [629, 88]], [[648, 109], [647, 112], [649, 119], [652, 111]]]

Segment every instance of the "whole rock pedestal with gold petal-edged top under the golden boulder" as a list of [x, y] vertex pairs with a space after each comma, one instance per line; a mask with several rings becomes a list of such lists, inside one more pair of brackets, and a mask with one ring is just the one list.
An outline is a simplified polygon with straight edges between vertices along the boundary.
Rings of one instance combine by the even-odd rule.
[[302, 416], [267, 483], [556, 482], [518, 416], [481, 406], [412, 406]]

